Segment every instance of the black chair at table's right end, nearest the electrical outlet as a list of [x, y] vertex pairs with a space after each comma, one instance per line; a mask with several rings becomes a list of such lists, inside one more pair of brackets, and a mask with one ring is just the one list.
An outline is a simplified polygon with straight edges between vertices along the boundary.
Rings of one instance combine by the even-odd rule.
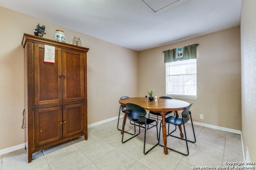
[[[175, 129], [176, 129], [176, 126], [178, 125], [183, 125], [183, 129], [184, 129], [184, 135], [185, 135], [185, 139], [181, 138], [181, 137], [177, 137], [177, 136], [174, 136], [174, 135], [171, 135], [174, 131], [172, 131], [171, 133], [168, 133], [167, 136], [171, 136], [171, 137], [176, 137], [178, 139], [182, 139], [184, 141], [186, 141], [186, 147], [187, 147], [187, 154], [186, 153], [182, 153], [178, 150], [174, 150], [174, 149], [171, 149], [171, 148], [168, 148], [167, 149], [170, 149], [170, 150], [173, 150], [174, 152], [178, 152], [180, 154], [183, 154], [184, 156], [188, 156], [189, 154], [189, 151], [188, 151], [188, 142], [191, 142], [191, 143], [195, 143], [196, 142], [196, 135], [195, 135], [195, 131], [194, 131], [194, 126], [193, 126], [193, 121], [192, 121], [192, 117], [191, 117], [191, 111], [190, 111], [190, 107], [192, 106], [192, 104], [190, 104], [189, 106], [187, 106], [183, 111], [182, 111], [182, 117], [176, 117], [176, 116], [169, 116], [169, 117], [166, 117], [165, 118], [165, 122], [166, 123], [169, 123], [169, 124], [173, 124], [175, 125]], [[193, 134], [194, 134], [194, 141], [190, 141], [187, 139], [187, 135], [186, 135], [186, 128], [185, 128], [185, 123], [188, 122], [188, 120], [190, 119], [191, 121], [191, 125], [192, 125], [192, 129], [193, 129]], [[161, 127], [161, 124], [162, 124], [162, 121], [160, 123], [160, 127]], [[169, 127], [168, 127], [169, 129]], [[169, 130], [168, 130], [169, 131]], [[159, 138], [158, 140], [160, 141], [160, 133], [161, 133], [161, 128], [159, 130]], [[158, 142], [159, 142], [158, 141]], [[160, 145], [160, 144], [159, 144]], [[160, 145], [161, 147], [164, 147], [163, 145]]]

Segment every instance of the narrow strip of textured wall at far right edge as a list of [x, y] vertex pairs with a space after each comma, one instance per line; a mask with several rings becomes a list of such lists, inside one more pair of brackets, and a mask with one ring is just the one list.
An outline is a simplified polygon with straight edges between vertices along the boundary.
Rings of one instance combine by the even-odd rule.
[[241, 79], [242, 136], [251, 162], [256, 162], [256, 1], [242, 0]]

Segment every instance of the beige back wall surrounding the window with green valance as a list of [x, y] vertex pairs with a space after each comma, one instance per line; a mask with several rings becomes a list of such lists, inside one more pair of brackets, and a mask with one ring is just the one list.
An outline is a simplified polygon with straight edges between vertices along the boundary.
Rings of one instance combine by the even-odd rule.
[[[139, 95], [154, 89], [164, 96], [165, 64], [162, 51], [199, 43], [197, 47], [197, 100], [193, 120], [241, 130], [240, 27], [179, 41], [139, 52]], [[204, 120], [199, 115], [204, 115]]]

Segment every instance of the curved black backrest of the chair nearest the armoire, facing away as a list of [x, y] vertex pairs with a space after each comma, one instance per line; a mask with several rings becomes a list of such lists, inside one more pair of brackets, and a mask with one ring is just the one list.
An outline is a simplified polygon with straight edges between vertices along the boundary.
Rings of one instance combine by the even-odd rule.
[[146, 110], [136, 104], [126, 104], [127, 118], [138, 124], [145, 124]]

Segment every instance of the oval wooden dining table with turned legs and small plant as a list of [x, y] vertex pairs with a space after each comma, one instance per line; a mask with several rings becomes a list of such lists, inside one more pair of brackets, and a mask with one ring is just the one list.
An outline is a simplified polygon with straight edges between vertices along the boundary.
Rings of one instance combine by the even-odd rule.
[[[145, 98], [142, 97], [136, 97], [136, 98], [125, 98], [119, 100], [119, 104], [122, 106], [125, 106], [127, 103], [132, 103], [141, 106], [145, 110], [150, 110], [150, 111], [156, 111], [159, 112], [162, 115], [162, 131], [163, 131], [163, 141], [164, 141], [164, 154], [168, 154], [168, 149], [167, 149], [167, 135], [166, 135], [166, 123], [165, 123], [165, 114], [166, 111], [175, 111], [175, 115], [178, 115], [179, 110], [184, 110], [189, 103], [182, 101], [182, 100], [175, 100], [175, 99], [164, 99], [164, 98], [158, 98], [157, 102], [150, 102], [150, 101], [145, 101]], [[123, 120], [123, 126], [126, 123], [126, 114], [124, 115], [124, 120]], [[181, 126], [179, 126], [180, 129], [180, 136], [183, 136]], [[121, 133], [123, 133], [123, 128]]]

